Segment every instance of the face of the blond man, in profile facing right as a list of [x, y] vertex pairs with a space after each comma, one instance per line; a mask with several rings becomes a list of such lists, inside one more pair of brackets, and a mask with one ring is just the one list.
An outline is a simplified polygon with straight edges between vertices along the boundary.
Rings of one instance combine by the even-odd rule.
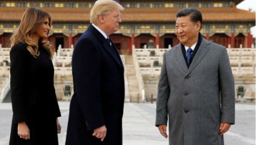
[[119, 23], [121, 20], [121, 13], [118, 9], [111, 11], [107, 16], [103, 16], [103, 31], [106, 35], [111, 35], [112, 33], [118, 31]]

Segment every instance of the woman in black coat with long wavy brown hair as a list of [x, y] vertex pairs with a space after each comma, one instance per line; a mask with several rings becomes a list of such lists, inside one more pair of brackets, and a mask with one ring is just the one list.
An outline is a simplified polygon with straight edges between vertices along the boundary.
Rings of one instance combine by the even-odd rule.
[[11, 38], [12, 129], [9, 145], [58, 145], [61, 116], [53, 84], [51, 17], [26, 9]]

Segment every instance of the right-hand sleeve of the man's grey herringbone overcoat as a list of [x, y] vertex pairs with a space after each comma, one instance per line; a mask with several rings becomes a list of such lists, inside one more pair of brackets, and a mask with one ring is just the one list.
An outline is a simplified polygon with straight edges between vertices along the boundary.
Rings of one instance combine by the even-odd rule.
[[230, 60], [225, 48], [221, 51], [219, 63], [221, 122], [235, 124], [235, 85]]

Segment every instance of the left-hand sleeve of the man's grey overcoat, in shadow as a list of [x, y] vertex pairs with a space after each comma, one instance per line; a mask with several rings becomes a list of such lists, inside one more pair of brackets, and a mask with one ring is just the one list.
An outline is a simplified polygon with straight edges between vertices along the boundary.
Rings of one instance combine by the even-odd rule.
[[160, 73], [160, 79], [158, 84], [158, 93], [157, 93], [157, 114], [156, 114], [156, 126], [158, 125], [167, 125], [168, 120], [168, 109], [167, 103], [170, 95], [170, 87], [166, 70], [166, 60], [165, 55], [163, 55], [163, 66]]

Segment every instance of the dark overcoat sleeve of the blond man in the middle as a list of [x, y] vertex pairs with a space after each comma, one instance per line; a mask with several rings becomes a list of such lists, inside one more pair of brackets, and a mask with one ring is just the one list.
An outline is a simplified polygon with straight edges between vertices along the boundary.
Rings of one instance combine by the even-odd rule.
[[100, 55], [92, 41], [83, 39], [73, 52], [74, 88], [87, 130], [105, 125], [100, 97]]

